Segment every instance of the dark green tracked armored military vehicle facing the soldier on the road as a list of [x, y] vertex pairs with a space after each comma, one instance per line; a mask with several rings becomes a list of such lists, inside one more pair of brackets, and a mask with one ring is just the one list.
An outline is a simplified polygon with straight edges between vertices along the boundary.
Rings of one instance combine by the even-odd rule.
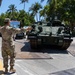
[[49, 46], [66, 50], [72, 42], [70, 28], [62, 24], [60, 20], [33, 24], [32, 30], [28, 33], [28, 39], [31, 48]]

